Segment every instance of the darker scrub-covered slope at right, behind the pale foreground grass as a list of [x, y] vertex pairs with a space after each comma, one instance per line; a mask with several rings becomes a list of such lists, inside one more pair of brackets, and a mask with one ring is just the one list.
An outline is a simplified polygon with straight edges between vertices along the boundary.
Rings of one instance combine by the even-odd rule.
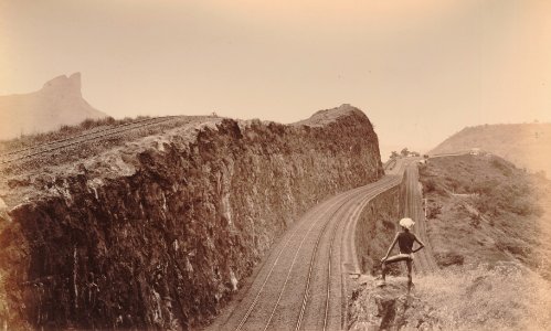
[[549, 181], [495, 156], [430, 159], [421, 174], [441, 266], [516, 260], [551, 279]]

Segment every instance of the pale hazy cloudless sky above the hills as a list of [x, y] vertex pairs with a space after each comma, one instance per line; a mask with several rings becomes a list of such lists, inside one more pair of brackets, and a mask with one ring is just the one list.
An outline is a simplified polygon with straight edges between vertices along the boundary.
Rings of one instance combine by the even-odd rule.
[[0, 0], [0, 95], [81, 72], [114, 117], [292, 122], [349, 103], [384, 153], [551, 121], [550, 58], [549, 0]]

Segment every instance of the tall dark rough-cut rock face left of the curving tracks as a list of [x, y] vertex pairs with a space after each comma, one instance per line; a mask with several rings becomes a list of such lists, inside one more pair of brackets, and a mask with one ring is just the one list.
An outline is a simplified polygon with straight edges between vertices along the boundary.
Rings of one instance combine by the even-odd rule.
[[96, 160], [13, 182], [33, 193], [0, 220], [0, 319], [204, 323], [298, 215], [383, 173], [377, 135], [350, 106], [290, 126], [218, 120], [139, 146], [112, 151], [104, 162], [116, 167]]

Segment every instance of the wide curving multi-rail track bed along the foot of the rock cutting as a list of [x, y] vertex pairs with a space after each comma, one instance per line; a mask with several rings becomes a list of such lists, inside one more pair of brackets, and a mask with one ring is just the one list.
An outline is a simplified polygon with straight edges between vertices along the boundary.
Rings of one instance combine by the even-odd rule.
[[350, 271], [345, 265], [354, 265], [346, 233], [371, 199], [400, 182], [400, 175], [386, 175], [310, 210], [272, 249], [240, 305], [208, 330], [343, 329]]

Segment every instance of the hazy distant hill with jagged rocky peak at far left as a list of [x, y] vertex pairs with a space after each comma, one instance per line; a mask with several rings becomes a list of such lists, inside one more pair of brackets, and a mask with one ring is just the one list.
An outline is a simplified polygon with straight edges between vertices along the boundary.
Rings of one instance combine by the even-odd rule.
[[0, 139], [56, 130], [107, 117], [82, 96], [81, 74], [59, 76], [36, 92], [0, 96]]

